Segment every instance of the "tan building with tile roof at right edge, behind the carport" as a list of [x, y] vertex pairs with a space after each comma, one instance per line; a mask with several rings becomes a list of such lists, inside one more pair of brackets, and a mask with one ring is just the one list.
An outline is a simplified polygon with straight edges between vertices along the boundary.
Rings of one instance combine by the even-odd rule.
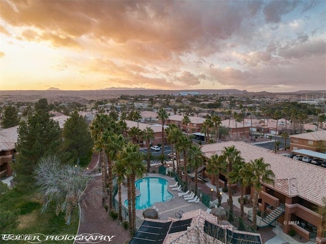
[[320, 143], [326, 143], [326, 130], [319, 130], [301, 134], [290, 135], [290, 151], [298, 149], [307, 149], [320, 152], [318, 146]]

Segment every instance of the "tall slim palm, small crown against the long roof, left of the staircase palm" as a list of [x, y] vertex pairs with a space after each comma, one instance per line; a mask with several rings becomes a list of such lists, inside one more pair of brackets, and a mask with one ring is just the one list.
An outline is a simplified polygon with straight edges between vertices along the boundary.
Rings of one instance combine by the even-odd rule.
[[224, 160], [228, 164], [228, 173], [226, 178], [228, 179], [228, 194], [229, 194], [229, 221], [233, 221], [233, 199], [232, 199], [232, 184], [229, 180], [229, 173], [232, 172], [233, 164], [239, 163], [243, 160], [240, 157], [240, 151], [235, 148], [235, 146], [224, 147], [222, 151], [221, 160]]

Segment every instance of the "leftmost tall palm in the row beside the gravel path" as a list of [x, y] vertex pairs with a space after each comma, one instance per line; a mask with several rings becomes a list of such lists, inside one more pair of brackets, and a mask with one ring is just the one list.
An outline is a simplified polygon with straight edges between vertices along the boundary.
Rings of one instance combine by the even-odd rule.
[[94, 140], [94, 150], [100, 152], [101, 155], [101, 171], [102, 171], [102, 204], [104, 205], [107, 199], [106, 192], [106, 165], [107, 165], [107, 157], [104, 150], [104, 141], [103, 141], [103, 133], [104, 131], [110, 127], [109, 118], [105, 114], [97, 114], [90, 125], [91, 136]]

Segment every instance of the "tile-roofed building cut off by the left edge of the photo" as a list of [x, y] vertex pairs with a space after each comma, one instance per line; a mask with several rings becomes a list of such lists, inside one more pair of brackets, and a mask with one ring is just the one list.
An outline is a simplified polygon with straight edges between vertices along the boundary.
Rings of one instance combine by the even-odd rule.
[[0, 177], [12, 176], [10, 164], [15, 160], [18, 126], [0, 130]]

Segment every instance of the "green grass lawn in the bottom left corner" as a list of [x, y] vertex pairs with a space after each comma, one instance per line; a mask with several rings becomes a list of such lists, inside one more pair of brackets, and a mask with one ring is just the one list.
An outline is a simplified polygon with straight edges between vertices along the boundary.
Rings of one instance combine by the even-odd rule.
[[[56, 215], [56, 206], [41, 213], [41, 201], [36, 191], [22, 192], [16, 188], [0, 196], [0, 233], [28, 235], [40, 233], [43, 235], [75, 235], [78, 228], [78, 209], [74, 210], [71, 224], [65, 224], [65, 213]], [[3, 240], [0, 240], [3, 243]], [[49, 241], [43, 241], [50, 243]], [[56, 241], [57, 242], [57, 241]], [[7, 240], [6, 243], [24, 243], [26, 241]], [[60, 241], [73, 243], [73, 240]]]

